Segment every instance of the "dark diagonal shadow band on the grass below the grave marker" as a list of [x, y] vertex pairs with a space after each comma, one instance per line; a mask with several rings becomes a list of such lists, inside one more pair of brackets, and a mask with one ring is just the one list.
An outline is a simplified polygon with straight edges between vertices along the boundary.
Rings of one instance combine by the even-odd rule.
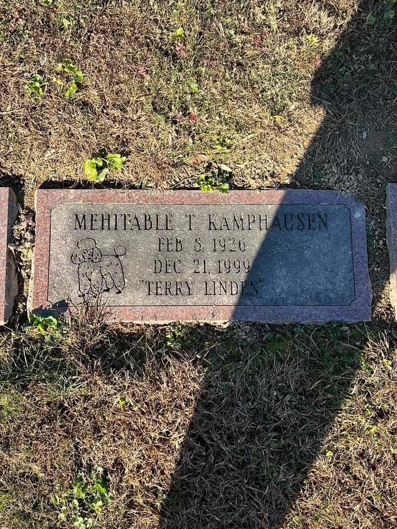
[[278, 527], [349, 389], [360, 336], [340, 325], [224, 332], [159, 529]]

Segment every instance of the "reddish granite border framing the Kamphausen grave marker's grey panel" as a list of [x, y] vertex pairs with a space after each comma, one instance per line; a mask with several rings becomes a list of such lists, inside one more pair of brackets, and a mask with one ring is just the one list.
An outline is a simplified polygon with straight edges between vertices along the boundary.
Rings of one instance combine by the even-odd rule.
[[[95, 195], [95, 197], [94, 197]], [[287, 196], [286, 196], [287, 195]], [[286, 199], [287, 198], [287, 199]], [[147, 204], [344, 204], [351, 212], [351, 228], [353, 238], [354, 269], [360, 280], [356, 284], [356, 300], [348, 307], [252, 307], [252, 306], [200, 306], [189, 305], [166, 307], [113, 307], [116, 317], [110, 321], [134, 323], [166, 323], [172, 321], [202, 321], [221, 323], [233, 320], [256, 321], [266, 323], [312, 323], [323, 324], [332, 321], [355, 323], [371, 321], [371, 282], [369, 281], [365, 208], [351, 195], [342, 195], [334, 190], [315, 189], [263, 189], [263, 190], [231, 190], [227, 194], [203, 193], [200, 190], [124, 190], [124, 189], [38, 189], [35, 193], [36, 209], [36, 245], [32, 259], [32, 282], [29, 289], [30, 311], [51, 308], [46, 299], [40, 303], [40, 290], [48, 287], [48, 254], [44, 252], [40, 265], [44, 264], [44, 273], [40, 271], [41, 288], [35, 286], [34, 277], [37, 272], [36, 256], [38, 244], [40, 251], [48, 248], [51, 209], [58, 203], [147, 203]], [[39, 212], [39, 208], [42, 208]], [[41, 218], [42, 217], [42, 218]], [[47, 223], [45, 222], [47, 217]], [[364, 241], [364, 244], [363, 244]], [[43, 262], [44, 261], [44, 262]], [[356, 277], [356, 273], [355, 273]], [[36, 284], [37, 285], [37, 284]], [[112, 307], [109, 307], [112, 309]], [[212, 314], [211, 314], [212, 308]], [[54, 309], [52, 307], [52, 309]], [[319, 309], [323, 318], [319, 318]], [[338, 310], [336, 310], [338, 309]], [[315, 312], [315, 317], [313, 317]], [[237, 315], [236, 315], [237, 313]], [[241, 313], [241, 314], [238, 314]], [[158, 314], [158, 316], [157, 316]]]

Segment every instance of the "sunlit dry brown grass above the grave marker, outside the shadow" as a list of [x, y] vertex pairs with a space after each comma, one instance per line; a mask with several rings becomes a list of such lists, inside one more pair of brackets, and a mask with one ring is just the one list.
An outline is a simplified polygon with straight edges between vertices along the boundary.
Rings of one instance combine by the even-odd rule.
[[[356, 5], [276, 4], [91, 2], [78, 9], [64, 1], [5, 2], [3, 171], [24, 179], [28, 205], [49, 178], [81, 178], [84, 160], [102, 147], [129, 155], [122, 181], [186, 185], [197, 171], [181, 161], [200, 154], [216, 162], [215, 142], [228, 138], [237, 183], [271, 183], [285, 169], [291, 142], [301, 154], [321, 119], [310, 109], [311, 77], [335, 43], [332, 29], [343, 28]], [[179, 26], [183, 52], [170, 39]], [[306, 41], [311, 33], [318, 45]], [[71, 99], [51, 81], [64, 58], [84, 74]], [[37, 72], [48, 80], [44, 96], [26, 97]]]

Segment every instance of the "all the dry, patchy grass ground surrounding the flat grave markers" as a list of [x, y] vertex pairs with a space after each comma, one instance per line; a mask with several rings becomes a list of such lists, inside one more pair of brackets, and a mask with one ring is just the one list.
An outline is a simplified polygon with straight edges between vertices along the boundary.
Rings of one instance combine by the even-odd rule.
[[[95, 465], [106, 529], [397, 526], [391, 4], [3, 1], [0, 176], [23, 213], [21, 289], [0, 331], [0, 526], [71, 526], [51, 498]], [[91, 185], [84, 163], [102, 149], [127, 157], [104, 186], [216, 175], [354, 192], [374, 323], [119, 326], [94, 308], [59, 332], [23, 330], [34, 192]]]

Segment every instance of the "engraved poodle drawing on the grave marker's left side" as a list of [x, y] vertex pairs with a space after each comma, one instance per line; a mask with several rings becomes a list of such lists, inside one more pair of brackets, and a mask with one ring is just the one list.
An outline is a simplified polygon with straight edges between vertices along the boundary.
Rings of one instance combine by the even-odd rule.
[[120, 294], [125, 287], [120, 256], [124, 256], [125, 252], [125, 246], [116, 244], [114, 254], [103, 255], [95, 239], [80, 239], [71, 254], [71, 261], [78, 265], [79, 296], [98, 295], [112, 289]]

